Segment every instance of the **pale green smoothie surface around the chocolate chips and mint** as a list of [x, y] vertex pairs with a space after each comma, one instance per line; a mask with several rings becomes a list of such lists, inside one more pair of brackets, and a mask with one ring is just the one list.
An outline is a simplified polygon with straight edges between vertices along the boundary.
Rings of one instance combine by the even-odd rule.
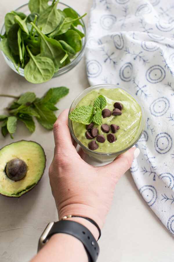
[[[104, 109], [109, 109], [113, 112], [114, 103], [120, 102], [123, 105], [122, 114], [103, 118], [102, 124], [115, 124], [120, 128], [115, 132], [116, 141], [110, 143], [107, 140], [107, 135], [112, 133], [112, 130], [108, 133], [102, 131], [101, 125], [94, 124], [93, 128], [98, 129], [98, 134], [102, 134], [105, 136], [106, 140], [104, 143], [99, 143], [98, 148], [95, 150], [100, 153], [114, 153], [121, 150], [124, 150], [129, 146], [130, 143], [137, 137], [140, 128], [141, 122], [141, 109], [135, 99], [126, 93], [124, 90], [119, 88], [108, 89], [102, 88], [98, 90], [93, 90], [87, 95], [85, 95], [77, 104], [77, 107], [85, 106], [85, 105], [94, 105], [94, 100], [99, 95], [103, 95], [106, 98], [106, 106]], [[73, 121], [73, 130], [77, 139], [88, 148], [88, 145], [91, 141], [96, 140], [96, 137], [93, 139], [86, 138], [86, 125], [82, 123], [78, 123]]]

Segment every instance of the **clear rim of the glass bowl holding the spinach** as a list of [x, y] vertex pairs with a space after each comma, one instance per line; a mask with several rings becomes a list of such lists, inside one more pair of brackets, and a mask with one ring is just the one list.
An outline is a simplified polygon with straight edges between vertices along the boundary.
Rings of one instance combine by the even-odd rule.
[[[49, 1], [53, 1], [53, 0], [49, 0]], [[67, 4], [65, 3], [62, 3], [62, 2], [59, 2], [60, 4], [64, 5], [64, 6], [67, 6], [68, 8], [71, 8], [73, 10], [75, 10], [74, 8], [72, 8], [71, 6], [68, 6]], [[58, 3], [58, 4], [59, 4]], [[24, 7], [24, 6], [28, 6], [28, 3], [25, 3], [23, 4], [22, 6], [19, 6], [17, 9], [15, 9], [14, 11], [18, 11], [20, 8]], [[75, 10], [76, 11], [76, 10]], [[77, 13], [77, 12], [76, 12]], [[79, 13], [77, 13], [77, 15], [80, 17]], [[87, 32], [86, 32], [86, 26], [85, 26], [85, 23], [84, 23], [84, 20], [81, 18], [80, 19], [82, 24], [83, 24], [83, 33], [84, 33], [84, 41], [82, 41], [82, 47], [81, 47], [81, 50], [78, 52], [77, 56], [75, 57], [75, 59], [73, 59], [68, 65], [65, 65], [64, 67], [60, 68], [54, 75], [54, 76], [59, 76], [59, 75], [62, 75], [64, 73], [64, 71], [69, 71], [70, 69], [72, 69], [76, 64], [76, 62], [78, 63], [78, 59], [79, 59], [79, 56], [83, 53], [84, 51], [84, 48], [86, 46], [86, 40], [87, 40]], [[2, 28], [1, 28], [1, 35], [2, 35], [2, 31], [3, 31], [3, 28], [5, 28], [5, 23], [3, 23], [2, 25]], [[1, 37], [0, 37], [0, 42], [1, 42]], [[83, 40], [83, 39], [82, 39]], [[2, 51], [1, 51], [2, 52]], [[4, 54], [4, 53], [3, 53]], [[5, 54], [4, 54], [5, 55]], [[12, 63], [12, 61], [8, 58], [8, 56], [5, 55], [5, 57]], [[12, 63], [13, 64], [13, 63]], [[75, 65], [74, 65], [75, 64]], [[24, 69], [19, 67], [21, 71], [23, 71]], [[16, 71], [15, 71], [16, 72]], [[18, 72], [17, 72], [18, 73]], [[18, 73], [19, 74], [19, 73]]]

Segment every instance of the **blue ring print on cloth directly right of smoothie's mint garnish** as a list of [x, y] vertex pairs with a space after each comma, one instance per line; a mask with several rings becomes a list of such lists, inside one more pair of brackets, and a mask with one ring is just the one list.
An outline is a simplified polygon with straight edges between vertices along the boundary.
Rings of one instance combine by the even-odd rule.
[[150, 106], [150, 111], [153, 116], [163, 116], [164, 114], [166, 114], [169, 107], [169, 100], [166, 97], [160, 97], [152, 102]]

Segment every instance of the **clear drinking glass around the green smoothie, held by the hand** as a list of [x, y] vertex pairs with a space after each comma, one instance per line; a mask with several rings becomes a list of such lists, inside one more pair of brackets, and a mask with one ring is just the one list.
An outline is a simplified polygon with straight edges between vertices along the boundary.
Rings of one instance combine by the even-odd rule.
[[[119, 151], [113, 152], [113, 153], [100, 153], [97, 151], [93, 151], [90, 150], [88, 147], [84, 146], [81, 141], [79, 141], [75, 135], [75, 132], [73, 130], [73, 122], [70, 120], [69, 118], [69, 114], [71, 113], [71, 111], [73, 109], [75, 109], [75, 107], [77, 106], [77, 104], [79, 103], [79, 101], [88, 93], [90, 93], [93, 90], [96, 89], [101, 89], [101, 88], [108, 88], [108, 89], [113, 89], [113, 88], [119, 88], [124, 90], [126, 93], [128, 93], [129, 95], [131, 95], [134, 100], [138, 103], [138, 105], [141, 108], [141, 121], [140, 121], [140, 126], [139, 126], [139, 130], [137, 132], [137, 135], [135, 136], [135, 138], [131, 141], [130, 144], [128, 144], [127, 147], [124, 148], [120, 148]], [[113, 85], [113, 84], [99, 84], [99, 85], [95, 85], [95, 86], [91, 86], [88, 87], [87, 89], [85, 89], [82, 93], [80, 93], [75, 100], [73, 101], [73, 103], [70, 106], [70, 110], [69, 110], [69, 114], [68, 114], [68, 126], [69, 126], [69, 130], [70, 133], [72, 134], [73, 138], [75, 139], [75, 141], [77, 142], [77, 144], [79, 144], [79, 146], [81, 146], [81, 148], [83, 149], [83, 151], [88, 154], [90, 157], [94, 158], [95, 160], [99, 161], [99, 162], [108, 162], [108, 161], [112, 161], [114, 160], [118, 155], [126, 152], [129, 148], [131, 148], [132, 146], [134, 146], [137, 141], [140, 139], [143, 131], [144, 131], [144, 126], [145, 126], [145, 115], [144, 115], [144, 110], [142, 105], [140, 104], [140, 102], [137, 100], [137, 98], [130, 92], [128, 91], [126, 88], [123, 88], [121, 86], [118, 85]], [[95, 138], [94, 138], [95, 139]]]

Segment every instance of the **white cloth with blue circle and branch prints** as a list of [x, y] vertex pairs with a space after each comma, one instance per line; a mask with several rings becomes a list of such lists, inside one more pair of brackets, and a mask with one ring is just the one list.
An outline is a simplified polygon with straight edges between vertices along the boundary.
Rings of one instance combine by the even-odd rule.
[[95, 0], [86, 49], [88, 80], [134, 93], [146, 115], [131, 173], [174, 236], [174, 1]]

